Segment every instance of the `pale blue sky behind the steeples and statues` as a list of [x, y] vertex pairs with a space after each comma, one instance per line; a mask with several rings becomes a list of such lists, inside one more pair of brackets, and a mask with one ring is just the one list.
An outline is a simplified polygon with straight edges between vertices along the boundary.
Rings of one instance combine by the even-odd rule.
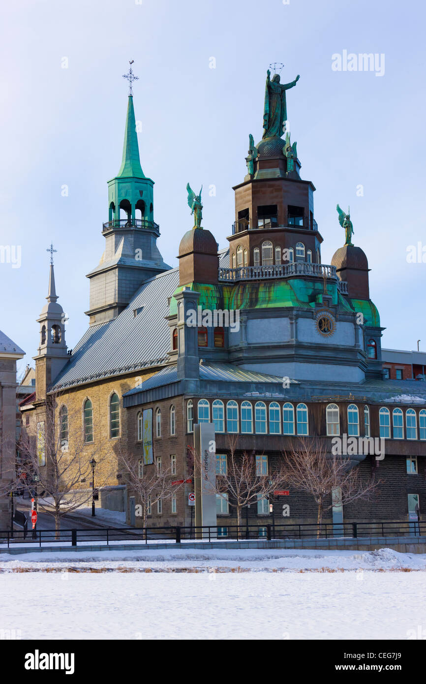
[[[371, 267], [382, 345], [426, 350], [423, 241], [425, 9], [406, 0], [21, 0], [0, 29], [0, 244], [21, 245], [21, 268], [0, 263], [0, 329], [36, 354], [51, 239], [68, 347], [88, 325], [85, 274], [103, 252], [107, 181], [120, 168], [128, 61], [135, 60], [142, 168], [155, 181], [159, 248], [177, 265], [192, 226], [185, 186], [204, 193], [204, 227], [219, 246], [234, 218], [248, 134], [261, 139], [265, 73], [300, 80], [287, 96], [302, 178], [315, 192], [323, 263], [343, 244], [336, 202], [351, 206], [354, 243]], [[335, 72], [334, 53], [384, 53], [382, 77]], [[68, 57], [68, 69], [61, 68]], [[216, 68], [209, 68], [215, 57]], [[62, 185], [69, 196], [61, 196]], [[357, 185], [364, 196], [356, 196]], [[425, 257], [426, 258], [426, 257]], [[31, 362], [34, 363], [34, 362]]]

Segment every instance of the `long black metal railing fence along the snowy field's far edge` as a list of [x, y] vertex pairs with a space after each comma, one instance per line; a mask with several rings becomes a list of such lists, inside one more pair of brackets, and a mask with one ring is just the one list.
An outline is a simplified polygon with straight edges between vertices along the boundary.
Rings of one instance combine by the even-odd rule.
[[423, 521], [380, 521], [356, 523], [283, 523], [265, 525], [222, 525], [173, 526], [173, 527], [120, 527], [96, 529], [54, 529], [37, 530], [32, 539], [26, 530], [0, 530], [0, 547], [7, 544], [66, 543], [72, 547], [93, 542], [109, 546], [118, 542], [161, 542], [179, 544], [190, 540], [317, 540], [317, 539], [359, 539], [386, 537], [426, 536], [426, 522]]

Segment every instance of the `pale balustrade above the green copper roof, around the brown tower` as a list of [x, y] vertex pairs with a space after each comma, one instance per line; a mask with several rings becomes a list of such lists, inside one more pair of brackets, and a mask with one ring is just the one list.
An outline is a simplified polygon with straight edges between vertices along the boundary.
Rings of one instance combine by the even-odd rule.
[[313, 276], [336, 280], [341, 294], [347, 294], [347, 282], [342, 282], [336, 274], [336, 267], [324, 263], [308, 263], [296, 261], [272, 266], [241, 266], [239, 268], [219, 268], [220, 282], [238, 282], [240, 280], [271, 280], [274, 278], [290, 278], [291, 276]]

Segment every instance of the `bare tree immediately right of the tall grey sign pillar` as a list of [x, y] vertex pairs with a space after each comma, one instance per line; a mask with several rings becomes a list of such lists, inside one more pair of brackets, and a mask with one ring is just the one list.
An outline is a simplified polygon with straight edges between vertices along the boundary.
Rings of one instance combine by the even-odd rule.
[[[193, 447], [195, 469], [202, 469], [200, 458], [196, 458]], [[274, 491], [287, 484], [286, 473], [282, 464], [274, 470], [268, 464], [269, 472], [263, 473], [259, 464], [256, 463], [254, 453], [237, 453], [237, 435], [228, 436], [228, 456], [226, 469], [217, 473], [213, 492], [228, 500], [230, 505], [237, 510], [237, 525], [241, 525], [242, 511], [245, 506], [258, 503], [261, 499], [269, 499]]]

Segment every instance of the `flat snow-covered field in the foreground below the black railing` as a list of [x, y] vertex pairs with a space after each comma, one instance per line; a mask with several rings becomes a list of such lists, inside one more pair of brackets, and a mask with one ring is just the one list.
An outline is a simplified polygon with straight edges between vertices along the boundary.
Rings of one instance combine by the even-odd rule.
[[426, 555], [391, 549], [0, 556], [0, 631], [23, 639], [418, 638], [425, 594]]

